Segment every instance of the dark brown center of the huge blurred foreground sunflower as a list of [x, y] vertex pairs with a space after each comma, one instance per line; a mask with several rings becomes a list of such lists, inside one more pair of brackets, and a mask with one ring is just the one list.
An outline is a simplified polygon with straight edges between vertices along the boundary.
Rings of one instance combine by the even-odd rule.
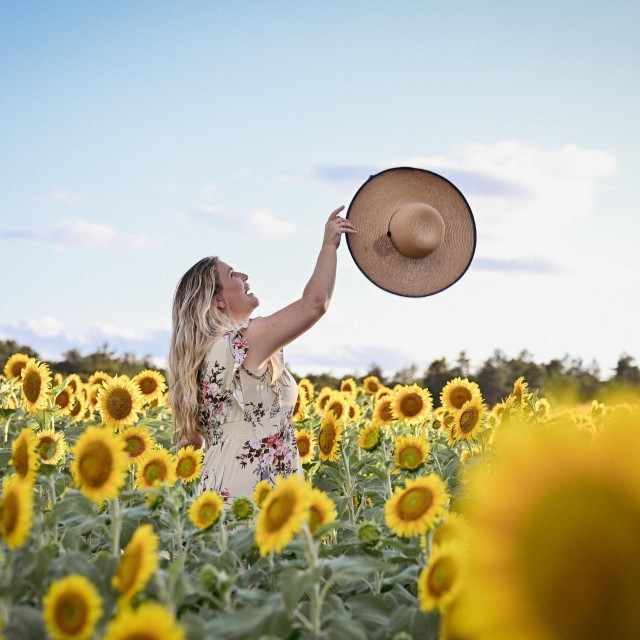
[[627, 638], [640, 625], [640, 509], [618, 487], [580, 480], [528, 514], [516, 570], [549, 635]]

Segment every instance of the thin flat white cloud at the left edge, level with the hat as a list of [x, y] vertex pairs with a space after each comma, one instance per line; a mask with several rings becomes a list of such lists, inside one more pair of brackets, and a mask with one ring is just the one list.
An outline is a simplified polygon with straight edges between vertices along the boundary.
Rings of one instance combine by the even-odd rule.
[[87, 248], [150, 249], [164, 241], [144, 234], [122, 233], [114, 227], [81, 218], [61, 218], [49, 229], [0, 231], [0, 238], [44, 242], [56, 249]]

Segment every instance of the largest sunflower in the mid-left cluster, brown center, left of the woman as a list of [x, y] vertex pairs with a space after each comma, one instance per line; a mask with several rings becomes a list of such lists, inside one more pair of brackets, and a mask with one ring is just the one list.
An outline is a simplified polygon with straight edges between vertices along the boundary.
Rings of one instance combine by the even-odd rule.
[[126, 482], [128, 457], [122, 441], [103, 427], [87, 427], [71, 453], [74, 484], [94, 502], [111, 500]]

